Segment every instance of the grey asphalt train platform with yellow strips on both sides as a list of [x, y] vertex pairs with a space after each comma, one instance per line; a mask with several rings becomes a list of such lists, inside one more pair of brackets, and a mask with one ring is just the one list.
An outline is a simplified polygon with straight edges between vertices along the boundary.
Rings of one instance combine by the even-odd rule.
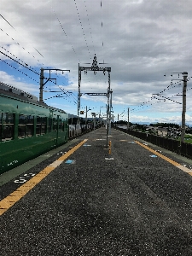
[[192, 161], [100, 128], [0, 176], [3, 256], [192, 255]]

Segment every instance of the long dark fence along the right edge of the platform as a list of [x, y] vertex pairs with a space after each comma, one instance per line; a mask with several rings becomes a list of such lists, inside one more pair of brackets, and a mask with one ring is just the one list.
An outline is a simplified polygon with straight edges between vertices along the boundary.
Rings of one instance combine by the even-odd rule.
[[160, 146], [161, 148], [166, 148], [172, 152], [175, 152], [177, 154], [181, 154], [183, 156], [188, 157], [189, 159], [192, 159], [192, 144], [190, 143], [181, 143], [167, 137], [160, 137], [156, 136], [154, 134], [149, 134], [141, 131], [132, 131], [132, 130], [127, 130], [123, 128], [119, 128], [118, 126], [113, 127], [119, 131], [123, 131], [127, 134], [130, 134], [134, 137], [138, 137], [148, 143], [155, 144], [157, 146]]

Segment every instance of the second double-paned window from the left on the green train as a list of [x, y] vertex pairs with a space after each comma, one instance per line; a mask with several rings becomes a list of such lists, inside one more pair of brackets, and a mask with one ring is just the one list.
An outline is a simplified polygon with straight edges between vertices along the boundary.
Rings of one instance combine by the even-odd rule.
[[31, 115], [20, 114], [18, 125], [18, 137], [32, 137], [34, 130], [34, 117]]

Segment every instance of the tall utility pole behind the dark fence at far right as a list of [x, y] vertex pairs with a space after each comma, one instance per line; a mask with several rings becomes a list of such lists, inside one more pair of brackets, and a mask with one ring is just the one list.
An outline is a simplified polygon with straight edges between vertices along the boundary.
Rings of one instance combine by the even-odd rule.
[[187, 77], [188, 73], [183, 72], [183, 111], [182, 111], [182, 133], [181, 133], [181, 143], [184, 142], [185, 135], [185, 113], [186, 113], [186, 90], [187, 90]]

